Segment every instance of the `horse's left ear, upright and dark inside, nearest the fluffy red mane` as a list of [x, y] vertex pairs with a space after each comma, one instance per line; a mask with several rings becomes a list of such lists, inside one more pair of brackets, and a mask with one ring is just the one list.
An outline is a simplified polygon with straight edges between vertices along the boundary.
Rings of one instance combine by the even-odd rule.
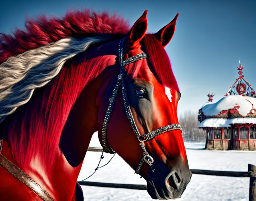
[[128, 32], [129, 46], [139, 46], [139, 42], [145, 36], [147, 31], [147, 10], [134, 23], [131, 30]]

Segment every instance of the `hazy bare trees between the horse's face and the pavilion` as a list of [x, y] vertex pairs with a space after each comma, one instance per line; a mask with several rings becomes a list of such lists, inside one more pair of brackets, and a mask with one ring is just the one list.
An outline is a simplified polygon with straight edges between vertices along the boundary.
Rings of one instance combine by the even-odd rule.
[[197, 115], [197, 112], [187, 110], [179, 117], [179, 124], [181, 124], [182, 136], [185, 142], [205, 142], [205, 132], [203, 129], [198, 128]]

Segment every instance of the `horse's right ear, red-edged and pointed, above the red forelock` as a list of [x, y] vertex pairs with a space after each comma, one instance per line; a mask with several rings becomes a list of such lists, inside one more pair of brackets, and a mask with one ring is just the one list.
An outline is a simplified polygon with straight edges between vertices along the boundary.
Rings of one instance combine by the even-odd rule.
[[157, 33], [154, 34], [156, 39], [160, 43], [162, 43], [163, 47], [165, 47], [171, 41], [171, 38], [173, 37], [178, 15], [179, 15], [179, 13], [177, 13], [177, 15], [175, 16], [173, 21], [171, 21], [168, 25], [166, 25], [165, 27], [163, 27]]

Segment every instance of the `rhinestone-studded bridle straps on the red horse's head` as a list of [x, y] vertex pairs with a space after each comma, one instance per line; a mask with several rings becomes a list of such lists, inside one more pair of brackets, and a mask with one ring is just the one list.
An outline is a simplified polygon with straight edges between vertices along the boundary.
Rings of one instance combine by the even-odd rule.
[[165, 132], [169, 132], [171, 130], [181, 130], [182, 132], [182, 128], [179, 124], [170, 124], [167, 126], [163, 126], [161, 128], [157, 128], [156, 130], [153, 130], [147, 134], [143, 134], [141, 135], [139, 133], [139, 130], [135, 124], [132, 112], [131, 112], [131, 108], [127, 99], [127, 93], [126, 93], [126, 88], [125, 88], [125, 81], [124, 81], [124, 76], [123, 76], [123, 72], [124, 72], [124, 67], [130, 63], [133, 63], [135, 61], [141, 60], [141, 59], [146, 59], [147, 55], [146, 53], [140, 53], [138, 55], [135, 55], [131, 58], [128, 58], [127, 60], [123, 61], [123, 41], [124, 38], [121, 39], [121, 41], [119, 42], [119, 47], [118, 47], [118, 54], [119, 54], [119, 65], [120, 65], [120, 73], [117, 76], [117, 83], [115, 85], [115, 89], [113, 89], [113, 95], [110, 97], [109, 99], [109, 106], [107, 107], [107, 112], [105, 114], [105, 118], [103, 121], [103, 126], [102, 126], [102, 134], [101, 134], [101, 145], [103, 147], [103, 149], [105, 150], [105, 152], [107, 153], [111, 153], [114, 154], [115, 151], [108, 145], [107, 143], [107, 124], [109, 122], [109, 118], [111, 115], [111, 111], [113, 108], [113, 104], [115, 102], [115, 98], [117, 95], [117, 91], [119, 89], [119, 86], [121, 85], [121, 89], [122, 89], [122, 97], [123, 97], [123, 103], [124, 103], [124, 107], [125, 107], [125, 112], [127, 115], [127, 118], [131, 124], [131, 128], [133, 129], [134, 134], [136, 135], [137, 139], [139, 140], [139, 145], [141, 146], [142, 150], [143, 150], [143, 157], [141, 159], [141, 161], [139, 162], [138, 167], [135, 170], [136, 174], [139, 174], [140, 170], [141, 170], [141, 166], [143, 164], [143, 162], [145, 161], [146, 163], [149, 164], [149, 166], [152, 165], [152, 163], [154, 162], [154, 159], [152, 158], [152, 156], [149, 155], [149, 153], [147, 152], [146, 148], [145, 148], [145, 143], [148, 140], [153, 139], [155, 136], [160, 135], [162, 133]]

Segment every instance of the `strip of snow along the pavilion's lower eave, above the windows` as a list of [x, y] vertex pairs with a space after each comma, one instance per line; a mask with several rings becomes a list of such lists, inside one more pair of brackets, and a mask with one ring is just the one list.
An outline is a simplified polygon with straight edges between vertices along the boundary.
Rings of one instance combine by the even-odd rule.
[[230, 124], [256, 124], [256, 118], [248, 117], [248, 118], [232, 118], [232, 119], [225, 119], [225, 118], [207, 118], [203, 120], [199, 124], [199, 128], [204, 127], [231, 127]]

